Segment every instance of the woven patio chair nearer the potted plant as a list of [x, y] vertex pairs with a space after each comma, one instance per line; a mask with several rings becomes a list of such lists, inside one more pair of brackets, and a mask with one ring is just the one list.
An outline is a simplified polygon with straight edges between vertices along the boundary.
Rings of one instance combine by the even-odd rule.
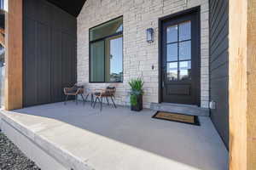
[[94, 95], [95, 95], [96, 99], [94, 101], [93, 108], [95, 108], [96, 102], [98, 100], [101, 103], [101, 111], [102, 111], [102, 99], [103, 98], [107, 99], [108, 105], [110, 105], [109, 101], [108, 101], [108, 98], [110, 98], [112, 100], [114, 108], [116, 108], [116, 105], [115, 105], [115, 103], [113, 101], [113, 98], [115, 98], [115, 96], [114, 96], [115, 95], [115, 91], [116, 91], [115, 87], [107, 87], [107, 88], [103, 88], [103, 89], [95, 89]]

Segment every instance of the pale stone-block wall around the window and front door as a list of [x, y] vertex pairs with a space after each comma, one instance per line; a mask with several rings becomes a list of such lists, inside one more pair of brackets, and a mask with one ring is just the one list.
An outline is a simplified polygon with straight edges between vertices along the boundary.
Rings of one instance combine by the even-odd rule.
[[[116, 101], [129, 105], [131, 78], [143, 76], [144, 107], [159, 102], [158, 21], [161, 17], [201, 6], [201, 107], [208, 107], [208, 0], [87, 0], [78, 16], [78, 82], [87, 88], [106, 87], [89, 83], [89, 29], [124, 17], [124, 82], [117, 84]], [[146, 29], [154, 28], [154, 42], [146, 42]], [[154, 65], [154, 70], [152, 70]]]

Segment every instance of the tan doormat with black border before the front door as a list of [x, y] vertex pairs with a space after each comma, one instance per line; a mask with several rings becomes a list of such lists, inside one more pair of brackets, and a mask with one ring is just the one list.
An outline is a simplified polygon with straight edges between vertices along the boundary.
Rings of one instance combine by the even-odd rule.
[[152, 118], [162, 119], [162, 120], [172, 121], [172, 122], [182, 122], [186, 124], [200, 126], [198, 116], [184, 115], [180, 113], [171, 113], [166, 111], [157, 111], [156, 114], [152, 116]]

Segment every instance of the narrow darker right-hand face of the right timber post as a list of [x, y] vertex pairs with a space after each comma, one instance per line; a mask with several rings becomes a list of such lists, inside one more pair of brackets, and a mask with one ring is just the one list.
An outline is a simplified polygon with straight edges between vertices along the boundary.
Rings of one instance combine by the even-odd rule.
[[256, 169], [256, 1], [247, 3], [247, 169]]

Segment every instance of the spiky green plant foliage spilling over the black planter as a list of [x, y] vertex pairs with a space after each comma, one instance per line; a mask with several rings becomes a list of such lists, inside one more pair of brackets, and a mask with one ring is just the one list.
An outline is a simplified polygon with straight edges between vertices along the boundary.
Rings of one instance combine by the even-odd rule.
[[130, 102], [131, 105], [137, 105], [137, 96], [143, 95], [143, 79], [141, 77], [131, 79], [129, 82], [131, 87]]

